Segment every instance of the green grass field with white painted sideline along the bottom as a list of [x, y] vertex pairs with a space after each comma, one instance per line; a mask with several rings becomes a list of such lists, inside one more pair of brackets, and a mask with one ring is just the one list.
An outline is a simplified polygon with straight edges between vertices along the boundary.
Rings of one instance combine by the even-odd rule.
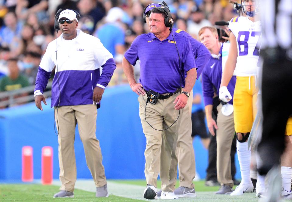
[[[109, 197], [96, 198], [93, 180], [78, 179], [75, 185], [74, 198], [59, 199], [53, 198], [53, 195], [59, 189], [60, 182], [58, 180], [54, 180], [53, 185], [38, 183], [0, 184], [0, 201], [145, 201], [146, 199], [142, 197], [145, 183], [145, 180], [109, 180]], [[219, 189], [219, 186], [207, 187], [204, 185], [204, 181], [194, 182], [194, 184], [198, 196], [196, 198], [180, 198], [180, 201], [258, 201], [255, 193], [245, 193], [238, 197], [216, 195], [214, 192]], [[157, 182], [157, 185], [159, 185], [159, 189], [160, 181]], [[159, 199], [158, 201], [165, 200]]]

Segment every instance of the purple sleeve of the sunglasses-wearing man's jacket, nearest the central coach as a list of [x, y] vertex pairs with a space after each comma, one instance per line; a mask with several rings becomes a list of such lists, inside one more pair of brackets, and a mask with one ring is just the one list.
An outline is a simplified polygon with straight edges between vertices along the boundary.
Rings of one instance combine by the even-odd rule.
[[97, 83], [107, 87], [108, 83], [111, 81], [111, 76], [114, 74], [114, 70], [116, 69], [116, 63], [114, 59], [108, 59], [102, 67], [102, 73], [100, 78], [98, 79]]

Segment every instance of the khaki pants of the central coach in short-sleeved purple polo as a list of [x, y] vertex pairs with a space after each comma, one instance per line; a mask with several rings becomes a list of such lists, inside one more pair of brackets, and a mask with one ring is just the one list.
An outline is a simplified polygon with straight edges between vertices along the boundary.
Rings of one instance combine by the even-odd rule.
[[[168, 99], [159, 99], [156, 105], [151, 103], [146, 107], [146, 121], [153, 128], [162, 130], [167, 128], [178, 118], [179, 111], [174, 109], [174, 100], [180, 95], [177, 93]], [[142, 123], [143, 132], [146, 136], [145, 149], [145, 177], [149, 185], [157, 187], [157, 177], [160, 173], [160, 179], [163, 184], [163, 191], [173, 192], [169, 182], [169, 172], [171, 165], [171, 155], [175, 152], [178, 140], [178, 126], [180, 125], [182, 114], [178, 120], [163, 133], [153, 129], [145, 121], [145, 105], [147, 96], [138, 97], [140, 103], [139, 115]], [[182, 110], [181, 110], [182, 111]], [[182, 113], [182, 112], [180, 112]]]

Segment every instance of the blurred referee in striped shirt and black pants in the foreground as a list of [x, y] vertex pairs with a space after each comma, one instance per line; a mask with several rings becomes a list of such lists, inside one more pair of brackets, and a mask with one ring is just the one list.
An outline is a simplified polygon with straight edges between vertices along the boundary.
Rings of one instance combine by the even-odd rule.
[[284, 134], [292, 114], [292, 1], [262, 0], [262, 140], [258, 145], [261, 175], [279, 165]]

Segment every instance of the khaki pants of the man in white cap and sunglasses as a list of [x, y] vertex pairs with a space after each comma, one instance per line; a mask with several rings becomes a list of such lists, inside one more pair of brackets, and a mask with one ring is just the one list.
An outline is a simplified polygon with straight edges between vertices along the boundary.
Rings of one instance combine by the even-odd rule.
[[59, 132], [60, 190], [73, 192], [76, 182], [76, 159], [74, 152], [75, 128], [78, 123], [83, 142], [86, 164], [97, 187], [107, 184], [102, 165], [99, 141], [96, 139], [96, 105], [60, 106], [55, 108], [55, 120]]

